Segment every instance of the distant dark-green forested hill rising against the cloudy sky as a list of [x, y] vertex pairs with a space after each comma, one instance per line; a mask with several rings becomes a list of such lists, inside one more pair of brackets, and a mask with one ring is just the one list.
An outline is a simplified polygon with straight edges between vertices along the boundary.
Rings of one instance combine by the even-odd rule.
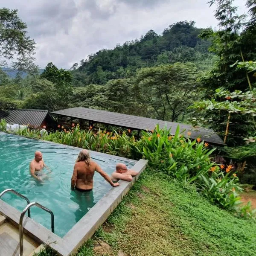
[[142, 67], [153, 67], [175, 62], [195, 62], [204, 69], [212, 65], [208, 52], [210, 40], [198, 35], [203, 29], [195, 22], [177, 22], [157, 35], [149, 30], [140, 40], [117, 44], [115, 49], [102, 49], [72, 67], [73, 85], [105, 84], [111, 79], [129, 78]]

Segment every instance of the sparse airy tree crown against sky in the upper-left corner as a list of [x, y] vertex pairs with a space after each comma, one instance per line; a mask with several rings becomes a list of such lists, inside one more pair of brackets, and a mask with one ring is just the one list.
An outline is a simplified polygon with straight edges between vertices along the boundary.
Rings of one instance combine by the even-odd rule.
[[35, 41], [27, 36], [26, 28], [17, 10], [0, 9], [0, 66], [12, 64], [17, 70], [34, 67]]

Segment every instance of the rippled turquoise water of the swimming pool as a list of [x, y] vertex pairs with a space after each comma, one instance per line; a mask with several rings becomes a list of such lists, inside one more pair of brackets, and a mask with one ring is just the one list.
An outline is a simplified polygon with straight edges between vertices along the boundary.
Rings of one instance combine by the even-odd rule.
[[[43, 153], [44, 162], [52, 172], [43, 183], [36, 181], [29, 173], [29, 163], [36, 150]], [[61, 144], [47, 143], [39, 140], [0, 132], [0, 192], [14, 189], [52, 210], [55, 216], [55, 234], [63, 237], [94, 204], [111, 189], [104, 178], [95, 173], [94, 187], [91, 192], [78, 192], [70, 189], [70, 179], [79, 149]], [[125, 163], [129, 168], [133, 162], [120, 161], [105, 157], [96, 152], [91, 153], [102, 169], [111, 175], [116, 163]], [[46, 172], [46, 171], [45, 171]], [[22, 211], [26, 201], [7, 193], [1, 198], [16, 209]], [[37, 207], [31, 208], [31, 218], [44, 227], [51, 229], [50, 215]]]

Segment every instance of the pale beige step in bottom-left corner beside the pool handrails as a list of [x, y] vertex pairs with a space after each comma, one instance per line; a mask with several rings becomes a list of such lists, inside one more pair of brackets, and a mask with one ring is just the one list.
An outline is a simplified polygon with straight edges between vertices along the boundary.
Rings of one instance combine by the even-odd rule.
[[[2, 215], [0, 219], [2, 219]], [[5, 218], [5, 217], [4, 217]], [[0, 225], [0, 255], [1, 256], [19, 256], [19, 229], [4, 219]], [[24, 255], [33, 255], [39, 244], [28, 236], [24, 235]], [[40, 249], [39, 249], [40, 251]]]

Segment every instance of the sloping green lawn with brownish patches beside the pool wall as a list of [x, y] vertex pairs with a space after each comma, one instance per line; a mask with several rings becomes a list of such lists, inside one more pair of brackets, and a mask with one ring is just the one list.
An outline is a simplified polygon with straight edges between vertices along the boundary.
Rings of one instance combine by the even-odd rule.
[[255, 230], [193, 186], [146, 170], [76, 256], [253, 256]]

